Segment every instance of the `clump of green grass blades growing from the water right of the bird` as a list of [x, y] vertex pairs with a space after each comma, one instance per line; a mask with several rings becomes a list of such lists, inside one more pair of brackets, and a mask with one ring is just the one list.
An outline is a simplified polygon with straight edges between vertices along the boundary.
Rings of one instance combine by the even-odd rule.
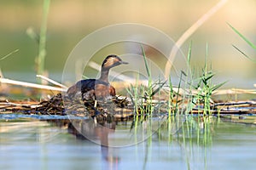
[[[189, 65], [191, 59], [191, 48], [192, 43], [189, 46], [187, 65]], [[169, 117], [179, 114], [187, 115], [192, 113], [192, 110], [197, 110], [198, 113], [202, 112], [204, 116], [212, 113], [214, 103], [212, 94], [226, 82], [212, 84], [215, 73], [211, 66], [208, 66], [208, 54], [206, 54], [205, 65], [199, 75], [195, 74], [195, 69], [192, 73], [190, 73], [190, 68], [187, 71], [180, 71], [177, 88], [173, 88], [172, 77], [169, 77], [168, 81], [152, 82], [151, 71], [144, 52], [143, 59], [148, 73], [148, 86], [143, 86], [137, 80], [136, 85], [131, 85], [130, 88], [126, 89], [134, 105], [135, 113], [142, 115], [168, 113]], [[192, 78], [189, 77], [190, 74], [192, 74]], [[157, 100], [157, 95], [166, 95], [166, 99]]]

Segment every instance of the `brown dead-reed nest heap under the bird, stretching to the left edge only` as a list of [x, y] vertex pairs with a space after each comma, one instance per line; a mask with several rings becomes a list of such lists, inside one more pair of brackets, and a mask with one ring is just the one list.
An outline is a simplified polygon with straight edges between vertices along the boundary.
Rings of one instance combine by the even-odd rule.
[[[0, 102], [0, 112], [2, 113], [22, 113], [38, 115], [60, 115], [60, 116], [91, 116], [100, 121], [108, 121], [110, 115], [124, 118], [132, 116], [133, 110], [129, 106], [130, 101], [126, 98], [111, 97], [108, 99], [96, 100], [86, 98], [81, 99], [81, 94], [76, 94], [73, 98], [56, 94], [49, 100], [36, 102]], [[129, 109], [130, 107], [130, 109]]]

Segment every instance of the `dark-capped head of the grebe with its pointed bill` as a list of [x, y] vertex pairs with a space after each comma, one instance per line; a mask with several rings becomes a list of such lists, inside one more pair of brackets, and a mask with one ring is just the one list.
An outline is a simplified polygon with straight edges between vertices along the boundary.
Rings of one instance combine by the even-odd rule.
[[110, 69], [117, 65], [126, 65], [126, 64], [128, 63], [120, 59], [119, 56], [112, 54], [112, 55], [108, 55], [108, 57], [103, 60], [102, 68]]

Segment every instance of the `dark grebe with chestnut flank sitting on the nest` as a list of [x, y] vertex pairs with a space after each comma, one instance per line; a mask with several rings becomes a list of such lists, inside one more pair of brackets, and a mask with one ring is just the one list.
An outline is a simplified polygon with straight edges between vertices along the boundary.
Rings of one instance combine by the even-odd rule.
[[109, 96], [115, 96], [115, 88], [108, 82], [109, 70], [115, 66], [126, 64], [128, 64], [128, 62], [120, 59], [118, 55], [108, 55], [102, 62], [101, 77], [76, 82], [72, 87], [67, 89], [67, 95], [73, 96], [81, 92], [82, 99], [92, 99], [92, 97], [94, 97], [93, 99], [106, 99]]

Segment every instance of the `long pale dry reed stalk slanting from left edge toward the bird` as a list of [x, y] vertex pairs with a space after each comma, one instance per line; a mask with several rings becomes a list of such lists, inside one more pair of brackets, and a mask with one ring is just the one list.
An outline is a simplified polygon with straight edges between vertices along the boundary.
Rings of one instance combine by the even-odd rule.
[[55, 88], [52, 86], [35, 84], [35, 83], [31, 83], [31, 82], [20, 82], [20, 81], [10, 80], [7, 78], [0, 78], [0, 82], [19, 85], [19, 86], [25, 86], [25, 87], [29, 87], [29, 88], [40, 88], [40, 89], [53, 90], [53, 91], [59, 91], [59, 92], [67, 91], [67, 88]]

